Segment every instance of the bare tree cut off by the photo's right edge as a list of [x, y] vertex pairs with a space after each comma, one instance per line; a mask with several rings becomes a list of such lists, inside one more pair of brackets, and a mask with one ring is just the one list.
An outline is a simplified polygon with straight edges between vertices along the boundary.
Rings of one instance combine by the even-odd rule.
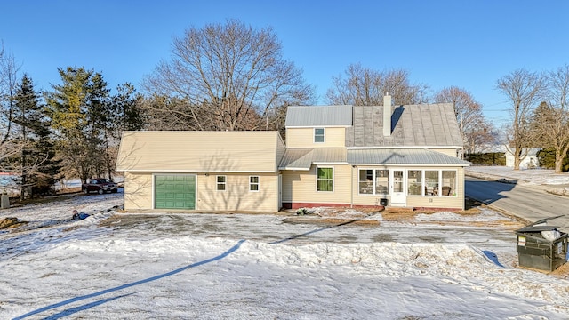
[[569, 151], [569, 65], [546, 75], [548, 102], [535, 110], [533, 128], [541, 147], [555, 150], [555, 172], [562, 172]]

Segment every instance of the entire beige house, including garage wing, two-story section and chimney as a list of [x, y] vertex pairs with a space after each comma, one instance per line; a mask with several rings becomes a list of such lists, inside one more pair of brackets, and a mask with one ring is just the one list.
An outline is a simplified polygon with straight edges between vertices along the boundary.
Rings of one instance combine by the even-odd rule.
[[463, 209], [451, 104], [296, 106], [277, 132], [124, 132], [125, 210]]

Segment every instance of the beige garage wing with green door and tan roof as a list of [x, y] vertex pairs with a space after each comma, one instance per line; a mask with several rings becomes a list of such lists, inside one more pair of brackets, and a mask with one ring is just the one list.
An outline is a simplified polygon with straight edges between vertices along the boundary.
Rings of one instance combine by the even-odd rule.
[[278, 132], [123, 132], [124, 210], [277, 212]]

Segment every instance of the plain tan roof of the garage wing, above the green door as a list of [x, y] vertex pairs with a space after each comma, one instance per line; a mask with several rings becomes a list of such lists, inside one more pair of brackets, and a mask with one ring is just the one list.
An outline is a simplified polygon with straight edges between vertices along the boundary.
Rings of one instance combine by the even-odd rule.
[[276, 172], [278, 132], [123, 132], [116, 171]]

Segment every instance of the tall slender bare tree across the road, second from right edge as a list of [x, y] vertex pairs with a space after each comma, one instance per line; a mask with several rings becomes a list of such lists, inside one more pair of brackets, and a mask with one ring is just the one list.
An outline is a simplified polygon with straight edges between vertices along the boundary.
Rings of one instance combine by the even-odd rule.
[[497, 89], [505, 94], [512, 104], [512, 123], [507, 140], [514, 155], [514, 170], [519, 170], [519, 164], [527, 156], [528, 149], [534, 147], [532, 112], [541, 99], [544, 84], [541, 74], [525, 69], [517, 69], [507, 76], [502, 76], [497, 82]]

